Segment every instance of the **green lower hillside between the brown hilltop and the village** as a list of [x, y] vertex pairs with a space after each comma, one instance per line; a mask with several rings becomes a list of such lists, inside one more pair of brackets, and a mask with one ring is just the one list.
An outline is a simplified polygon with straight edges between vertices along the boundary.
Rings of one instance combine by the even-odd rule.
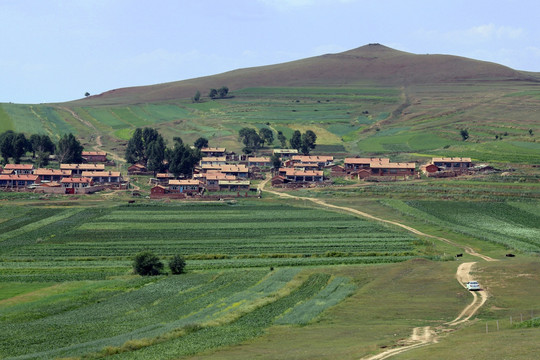
[[[132, 131], [144, 126], [156, 127], [169, 141], [180, 136], [192, 143], [204, 136], [234, 151], [241, 150], [237, 133], [245, 126], [269, 127], [286, 136], [295, 129], [312, 129], [322, 145], [315, 150], [319, 153], [387, 154], [404, 160], [468, 156], [476, 162], [538, 164], [540, 128], [531, 112], [539, 105], [535, 90], [527, 84], [492, 85], [258, 87], [201, 103], [1, 104], [0, 129], [56, 138], [74, 132], [89, 146], [102, 134], [105, 149], [120, 154]], [[461, 129], [468, 129], [467, 141]]]

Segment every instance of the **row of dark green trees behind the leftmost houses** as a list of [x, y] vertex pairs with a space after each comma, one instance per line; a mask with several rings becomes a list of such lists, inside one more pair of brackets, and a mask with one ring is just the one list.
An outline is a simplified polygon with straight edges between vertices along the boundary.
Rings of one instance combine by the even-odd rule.
[[20, 163], [26, 153], [31, 152], [38, 167], [49, 164], [49, 156], [55, 154], [61, 163], [81, 163], [83, 146], [73, 134], [63, 135], [55, 144], [48, 135], [32, 134], [29, 138], [23, 133], [8, 130], [0, 134], [0, 154], [2, 162]]

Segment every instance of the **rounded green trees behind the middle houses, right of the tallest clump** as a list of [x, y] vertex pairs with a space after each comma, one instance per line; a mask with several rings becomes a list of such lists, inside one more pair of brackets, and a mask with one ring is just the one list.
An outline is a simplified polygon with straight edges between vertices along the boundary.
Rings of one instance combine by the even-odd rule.
[[[271, 145], [274, 142], [274, 132], [269, 128], [261, 128], [257, 132], [253, 128], [242, 128], [238, 132], [239, 140], [244, 144], [242, 151], [245, 154], [251, 154], [254, 151], [257, 151], [264, 144]], [[278, 131], [277, 138], [281, 143], [282, 147], [287, 145], [287, 138], [281, 131]], [[315, 149], [315, 143], [317, 141], [317, 135], [311, 131], [307, 130], [305, 133], [301, 133], [300, 130], [295, 130], [289, 140], [289, 145], [292, 149], [300, 151], [304, 155], [308, 155], [309, 152]]]

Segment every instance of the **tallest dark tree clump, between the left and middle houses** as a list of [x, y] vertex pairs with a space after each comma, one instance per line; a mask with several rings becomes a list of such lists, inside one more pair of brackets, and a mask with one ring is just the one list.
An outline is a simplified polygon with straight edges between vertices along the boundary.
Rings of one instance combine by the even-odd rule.
[[154, 174], [168, 169], [174, 176], [191, 176], [193, 168], [201, 159], [200, 149], [208, 146], [208, 140], [199, 138], [195, 149], [186, 146], [180, 137], [173, 138], [168, 148], [161, 134], [152, 128], [137, 128], [128, 141], [125, 159], [130, 164], [143, 164]]

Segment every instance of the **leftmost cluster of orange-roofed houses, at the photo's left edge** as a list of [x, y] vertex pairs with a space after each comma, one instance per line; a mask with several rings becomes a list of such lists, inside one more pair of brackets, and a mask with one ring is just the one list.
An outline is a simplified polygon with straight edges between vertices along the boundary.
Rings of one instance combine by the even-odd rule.
[[[0, 168], [0, 188], [32, 189], [56, 194], [87, 194], [124, 183], [119, 171], [105, 170], [107, 154], [83, 151], [84, 164], [60, 164], [60, 169], [34, 168], [33, 164], [6, 164]], [[101, 162], [101, 163], [98, 163]]]

